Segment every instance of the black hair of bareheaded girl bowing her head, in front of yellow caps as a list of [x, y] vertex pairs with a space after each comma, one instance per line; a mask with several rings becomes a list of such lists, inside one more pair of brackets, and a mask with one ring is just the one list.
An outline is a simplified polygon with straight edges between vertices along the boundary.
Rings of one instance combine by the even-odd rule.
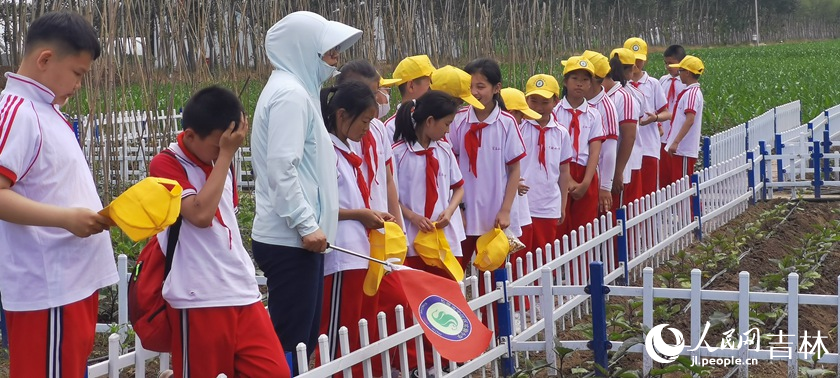
[[394, 118], [394, 142], [417, 142], [417, 133], [429, 117], [438, 120], [455, 114], [458, 103], [455, 97], [446, 92], [428, 91], [417, 100], [402, 104]]

